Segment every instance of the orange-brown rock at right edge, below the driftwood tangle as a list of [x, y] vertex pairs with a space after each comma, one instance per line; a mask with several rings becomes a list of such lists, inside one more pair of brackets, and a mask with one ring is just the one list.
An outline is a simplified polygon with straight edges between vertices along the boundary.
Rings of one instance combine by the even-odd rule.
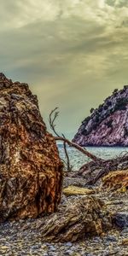
[[102, 189], [128, 191], [128, 170], [109, 172], [102, 177]]

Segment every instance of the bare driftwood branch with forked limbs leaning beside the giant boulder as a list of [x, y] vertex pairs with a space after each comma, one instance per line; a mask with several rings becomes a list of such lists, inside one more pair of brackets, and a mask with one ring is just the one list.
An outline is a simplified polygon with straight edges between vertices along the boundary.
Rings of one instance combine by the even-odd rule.
[[[108, 172], [115, 171], [119, 169], [119, 165], [121, 165], [121, 169], [128, 169], [128, 154], [119, 155], [119, 157], [112, 160], [102, 160], [101, 158], [96, 157], [95, 154], [91, 154], [86, 148], [80, 147], [78, 144], [70, 142], [63, 134], [60, 136], [55, 131], [55, 119], [58, 117], [59, 112], [56, 111], [58, 108], [55, 108], [49, 114], [49, 125], [52, 131], [55, 132], [55, 140], [63, 142], [64, 151], [66, 154], [66, 166], [67, 171], [72, 171], [73, 166], [70, 165], [69, 156], [67, 154], [67, 145], [69, 147], [73, 147], [79, 150], [82, 154], [86, 155], [90, 158], [90, 162], [85, 163], [84, 166], [81, 166], [79, 172], [75, 172], [75, 176], [82, 176], [86, 179], [86, 184], [94, 184], [101, 177], [108, 174]], [[54, 117], [53, 117], [54, 115]]]

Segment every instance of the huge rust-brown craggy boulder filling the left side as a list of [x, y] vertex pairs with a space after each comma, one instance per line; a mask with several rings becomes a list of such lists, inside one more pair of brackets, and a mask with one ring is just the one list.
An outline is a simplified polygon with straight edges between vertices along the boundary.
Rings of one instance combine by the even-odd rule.
[[0, 73], [0, 222], [55, 212], [62, 163], [27, 84]]

